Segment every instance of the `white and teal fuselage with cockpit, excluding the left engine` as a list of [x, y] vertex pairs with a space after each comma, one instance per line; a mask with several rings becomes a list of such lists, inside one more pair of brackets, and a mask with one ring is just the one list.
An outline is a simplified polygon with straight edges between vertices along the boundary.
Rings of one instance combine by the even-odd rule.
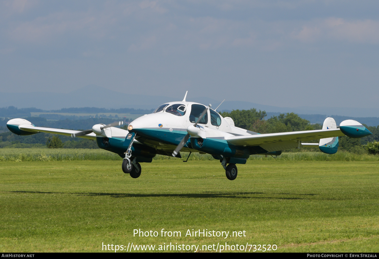
[[[169, 102], [159, 106], [155, 112], [135, 119], [129, 124], [129, 131], [136, 133], [138, 142], [158, 151], [172, 153], [187, 134], [187, 128], [197, 122], [205, 108], [200, 103]], [[206, 114], [197, 124], [198, 134], [188, 139], [182, 151], [208, 153], [218, 159], [223, 156], [246, 159], [250, 154], [267, 152], [260, 147], [238, 147], [227, 143], [226, 139], [230, 136], [258, 134], [235, 127], [231, 118], [227, 120], [218, 112], [207, 108]]]

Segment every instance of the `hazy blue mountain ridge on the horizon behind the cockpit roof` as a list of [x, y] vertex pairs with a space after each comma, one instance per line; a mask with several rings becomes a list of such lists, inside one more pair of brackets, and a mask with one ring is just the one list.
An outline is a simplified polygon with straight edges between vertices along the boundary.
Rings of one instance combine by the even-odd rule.
[[[166, 93], [163, 93], [166, 94]], [[167, 93], [172, 94], [172, 93]], [[177, 95], [177, 93], [175, 93]], [[182, 93], [184, 96], [184, 92]], [[226, 96], [227, 98], [227, 93]], [[167, 96], [152, 96], [146, 94], [124, 94], [104, 87], [89, 85], [68, 93], [50, 93], [50, 92], [30, 92], [30, 93], [0, 93], [0, 106], [16, 106], [19, 108], [36, 107], [42, 110], [59, 110], [70, 107], [104, 107], [106, 109], [134, 108], [134, 109], [155, 109], [168, 101], [182, 100], [181, 98], [172, 98]], [[188, 92], [188, 101], [199, 103], [211, 103], [217, 107], [222, 100], [198, 95], [194, 92]], [[277, 107], [262, 105], [249, 101], [230, 101], [226, 100], [219, 109], [250, 109], [256, 108], [266, 112], [296, 112], [298, 114], [340, 114], [342, 116], [352, 117], [379, 117], [379, 108], [359, 108], [359, 107]], [[1, 115], [0, 115], [1, 117]], [[3, 116], [4, 117], [4, 116]]]

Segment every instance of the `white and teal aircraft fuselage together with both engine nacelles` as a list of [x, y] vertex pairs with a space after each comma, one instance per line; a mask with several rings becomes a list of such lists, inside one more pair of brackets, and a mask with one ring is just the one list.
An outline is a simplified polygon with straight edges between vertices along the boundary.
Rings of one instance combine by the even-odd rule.
[[[135, 133], [132, 153], [141, 161], [144, 158], [148, 161], [156, 154], [172, 156], [172, 151], [188, 133], [187, 128], [197, 122], [205, 108], [200, 103], [188, 101], [168, 102], [160, 105], [153, 113], [133, 120], [128, 130], [105, 128], [101, 135], [97, 135], [96, 142], [100, 148], [123, 157], [129, 143], [125, 140], [129, 133]], [[207, 108], [206, 114], [198, 122], [197, 129], [197, 134], [188, 139], [182, 151], [208, 153], [215, 159], [233, 157], [244, 159], [245, 162], [251, 154], [281, 153], [268, 152], [260, 146], [244, 147], [228, 143], [227, 139], [231, 136], [258, 133], [235, 127], [231, 118], [223, 118], [210, 108]]]

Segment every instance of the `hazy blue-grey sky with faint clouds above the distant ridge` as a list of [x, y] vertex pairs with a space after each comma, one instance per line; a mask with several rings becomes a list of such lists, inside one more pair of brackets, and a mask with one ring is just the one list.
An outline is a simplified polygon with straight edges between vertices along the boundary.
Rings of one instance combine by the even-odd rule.
[[189, 90], [189, 97], [282, 107], [375, 108], [378, 7], [307, 0], [0, 2], [0, 92], [95, 84], [175, 99]]

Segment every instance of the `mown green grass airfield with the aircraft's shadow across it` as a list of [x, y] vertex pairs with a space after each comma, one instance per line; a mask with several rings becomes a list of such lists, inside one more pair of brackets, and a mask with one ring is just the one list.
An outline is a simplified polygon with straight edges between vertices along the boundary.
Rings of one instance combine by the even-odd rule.
[[[142, 164], [138, 179], [122, 173], [120, 161], [20, 161], [0, 162], [2, 252], [102, 251], [102, 242], [379, 247], [377, 161], [256, 159], [238, 165], [234, 181], [216, 160], [157, 159]], [[162, 228], [182, 237], [160, 237]], [[133, 237], [133, 229], [159, 236]], [[185, 237], [187, 229], [246, 237]]]

